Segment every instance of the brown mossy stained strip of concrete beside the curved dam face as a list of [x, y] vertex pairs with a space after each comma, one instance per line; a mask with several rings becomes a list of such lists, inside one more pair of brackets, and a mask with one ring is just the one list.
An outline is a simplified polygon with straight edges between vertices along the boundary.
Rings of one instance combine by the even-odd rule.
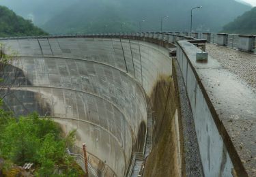
[[170, 77], [161, 77], [151, 95], [156, 126], [154, 148], [145, 162], [143, 176], [180, 176], [175, 131], [175, 87]]

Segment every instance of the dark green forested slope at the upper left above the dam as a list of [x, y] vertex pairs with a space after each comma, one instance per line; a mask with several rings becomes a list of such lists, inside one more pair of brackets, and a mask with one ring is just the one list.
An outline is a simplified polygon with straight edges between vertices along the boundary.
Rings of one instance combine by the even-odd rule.
[[0, 37], [46, 35], [42, 29], [35, 27], [29, 20], [17, 16], [7, 7], [0, 6]]

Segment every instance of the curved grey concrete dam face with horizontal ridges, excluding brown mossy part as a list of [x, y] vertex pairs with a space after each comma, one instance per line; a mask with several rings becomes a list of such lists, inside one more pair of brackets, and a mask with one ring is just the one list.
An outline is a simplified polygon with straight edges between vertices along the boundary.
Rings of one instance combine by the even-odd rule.
[[[37, 111], [76, 129], [76, 150], [87, 144], [89, 163], [102, 176], [124, 176], [143, 152], [147, 97], [172, 74], [169, 51], [132, 39], [10, 39], [15, 54], [5, 97], [16, 115]], [[18, 77], [14, 77], [18, 72]], [[15, 74], [14, 74], [15, 73]], [[11, 82], [10, 82], [11, 83]]]

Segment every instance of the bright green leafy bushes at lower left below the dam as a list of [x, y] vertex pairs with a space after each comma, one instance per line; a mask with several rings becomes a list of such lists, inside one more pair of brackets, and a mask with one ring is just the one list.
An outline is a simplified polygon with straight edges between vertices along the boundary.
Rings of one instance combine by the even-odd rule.
[[73, 143], [74, 131], [63, 138], [53, 120], [38, 114], [17, 120], [0, 110], [0, 157], [5, 161], [0, 174], [2, 170], [8, 176], [16, 165], [33, 163], [35, 176], [82, 176], [83, 171], [66, 152]]

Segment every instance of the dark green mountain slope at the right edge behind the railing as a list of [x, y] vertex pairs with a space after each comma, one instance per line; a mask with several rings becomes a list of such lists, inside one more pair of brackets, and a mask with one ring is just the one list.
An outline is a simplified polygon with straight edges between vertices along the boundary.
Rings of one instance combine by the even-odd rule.
[[229, 22], [223, 27], [222, 32], [256, 35], [256, 7], [238, 16], [233, 22]]

